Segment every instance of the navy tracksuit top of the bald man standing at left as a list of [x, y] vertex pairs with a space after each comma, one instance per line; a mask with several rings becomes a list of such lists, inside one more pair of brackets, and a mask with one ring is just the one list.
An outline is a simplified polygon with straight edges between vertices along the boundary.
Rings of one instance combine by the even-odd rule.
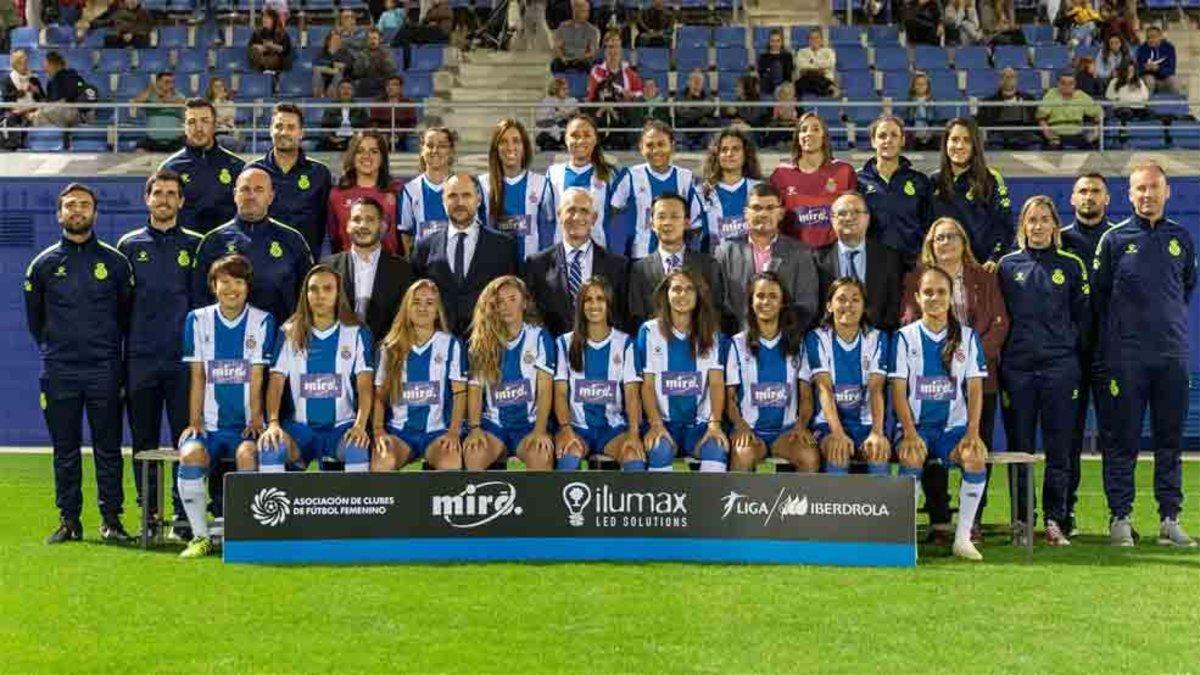
[[254, 273], [250, 304], [270, 312], [276, 324], [283, 325], [296, 307], [304, 275], [312, 268], [312, 253], [304, 235], [270, 217], [250, 222], [241, 216], [205, 234], [196, 255], [193, 306], [216, 301], [208, 286], [209, 268], [228, 253], [250, 258]]

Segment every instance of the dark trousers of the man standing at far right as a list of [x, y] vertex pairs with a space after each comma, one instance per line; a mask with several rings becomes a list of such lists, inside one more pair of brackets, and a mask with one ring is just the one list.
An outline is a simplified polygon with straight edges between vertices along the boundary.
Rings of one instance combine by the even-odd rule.
[[1180, 437], [1188, 414], [1188, 362], [1186, 357], [1151, 360], [1117, 358], [1110, 363], [1114, 394], [1112, 446], [1104, 453], [1104, 495], [1114, 518], [1133, 512], [1134, 470], [1141, 449], [1141, 422], [1150, 407], [1154, 448], [1154, 500], [1160, 518], [1175, 518], [1183, 501], [1183, 462]]

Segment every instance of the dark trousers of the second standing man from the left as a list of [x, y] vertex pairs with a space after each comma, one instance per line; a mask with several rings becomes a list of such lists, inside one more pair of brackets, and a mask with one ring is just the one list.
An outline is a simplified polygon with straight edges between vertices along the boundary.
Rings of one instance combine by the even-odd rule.
[[[167, 426], [170, 429], [170, 443], [174, 447], [179, 436], [187, 426], [187, 364], [158, 362], [149, 359], [131, 359], [130, 375], [126, 384], [126, 412], [130, 419], [130, 436], [133, 453], [154, 450], [162, 446], [162, 413], [166, 408]], [[142, 484], [142, 462], [133, 461], [133, 480], [138, 488], [138, 503], [156, 504], [155, 512], [162, 514], [162, 498], [156, 494], [158, 486], [160, 462], [150, 462], [149, 485]], [[172, 480], [172, 503], [175, 513], [184, 513], [179, 501], [179, 490]], [[146, 490], [151, 492], [148, 495]]]

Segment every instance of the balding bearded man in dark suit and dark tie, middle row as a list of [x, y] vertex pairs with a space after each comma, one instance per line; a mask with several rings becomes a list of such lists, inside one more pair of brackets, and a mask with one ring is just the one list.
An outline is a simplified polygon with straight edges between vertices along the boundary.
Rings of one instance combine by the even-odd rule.
[[466, 338], [484, 287], [493, 279], [517, 273], [516, 243], [484, 228], [475, 217], [479, 192], [469, 174], [446, 179], [442, 201], [450, 227], [416, 244], [413, 271], [438, 285], [450, 331]]

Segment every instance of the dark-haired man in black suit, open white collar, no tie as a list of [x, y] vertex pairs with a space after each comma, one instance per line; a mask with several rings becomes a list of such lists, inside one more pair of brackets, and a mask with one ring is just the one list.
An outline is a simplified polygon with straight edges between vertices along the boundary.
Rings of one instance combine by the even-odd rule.
[[383, 205], [374, 198], [355, 199], [346, 222], [350, 250], [322, 261], [341, 275], [342, 297], [371, 329], [377, 345], [388, 335], [400, 301], [413, 283], [408, 261], [384, 251], [379, 244], [383, 217]]

